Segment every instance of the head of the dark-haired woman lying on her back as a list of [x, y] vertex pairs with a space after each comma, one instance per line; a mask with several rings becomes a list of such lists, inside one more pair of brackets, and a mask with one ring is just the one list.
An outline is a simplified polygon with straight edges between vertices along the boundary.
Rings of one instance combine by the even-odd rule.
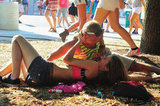
[[116, 55], [110, 55], [103, 60], [104, 62], [104, 73], [103, 80], [107, 81], [110, 84], [113, 84], [117, 81], [126, 81], [128, 80], [128, 74], [124, 67], [124, 64], [120, 58]]

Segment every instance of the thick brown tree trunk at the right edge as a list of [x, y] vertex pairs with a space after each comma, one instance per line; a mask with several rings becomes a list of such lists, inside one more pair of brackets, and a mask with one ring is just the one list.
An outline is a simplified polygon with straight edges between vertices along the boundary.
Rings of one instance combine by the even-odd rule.
[[160, 55], [160, 0], [147, 0], [140, 48], [143, 53]]

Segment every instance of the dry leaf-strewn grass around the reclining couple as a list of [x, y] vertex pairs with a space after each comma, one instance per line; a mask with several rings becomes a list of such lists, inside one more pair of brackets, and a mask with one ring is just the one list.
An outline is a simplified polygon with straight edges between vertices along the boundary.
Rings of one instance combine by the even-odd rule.
[[[42, 57], [46, 57], [54, 49], [59, 47], [62, 42], [58, 41], [30, 41], [31, 44], [36, 48]], [[139, 46], [139, 41], [136, 44]], [[124, 40], [105, 40], [107, 47], [111, 48], [112, 51], [124, 54], [128, 51], [129, 46]], [[127, 45], [127, 46], [126, 46]], [[0, 43], [0, 68], [4, 66], [7, 61], [11, 58], [11, 45], [10, 42]], [[133, 57], [138, 61], [147, 62], [150, 64], [160, 66], [160, 56], [153, 56], [147, 54], [141, 54]], [[55, 60], [54, 63], [58, 65], [64, 65], [62, 59]], [[160, 84], [159, 83], [145, 83], [142, 82], [147, 90], [152, 93], [156, 100], [143, 103], [143, 105], [159, 105], [160, 100]], [[23, 85], [23, 83], [22, 83]], [[83, 91], [79, 94], [49, 94], [48, 89], [51, 87], [10, 87], [6, 88], [0, 86], [0, 105], [89, 105], [89, 106], [107, 106], [107, 105], [124, 105], [141, 104], [141, 101], [128, 100], [127, 98], [113, 97], [111, 95], [112, 88], [98, 85], [88, 84], [84, 87]], [[103, 92], [105, 99], [97, 98], [96, 90], [99, 89]], [[129, 103], [130, 101], [130, 103]]]

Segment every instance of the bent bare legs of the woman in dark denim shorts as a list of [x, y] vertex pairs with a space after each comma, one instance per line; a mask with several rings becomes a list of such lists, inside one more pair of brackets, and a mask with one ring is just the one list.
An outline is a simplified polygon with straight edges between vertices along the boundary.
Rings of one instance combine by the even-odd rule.
[[15, 36], [12, 40], [12, 77], [19, 77], [22, 59], [28, 69], [33, 59], [37, 56], [39, 56], [37, 51], [24, 37]]

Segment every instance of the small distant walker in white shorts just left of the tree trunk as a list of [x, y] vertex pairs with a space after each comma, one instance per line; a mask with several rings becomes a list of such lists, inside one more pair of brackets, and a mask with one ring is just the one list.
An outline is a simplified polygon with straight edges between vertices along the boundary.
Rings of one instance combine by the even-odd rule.
[[142, 11], [142, 4], [145, 7], [145, 2], [144, 2], [144, 0], [132, 0], [132, 3], [133, 3], [133, 8], [132, 8], [131, 21], [130, 21], [129, 34], [131, 34], [131, 32], [132, 32], [134, 22], [137, 24], [138, 27], [143, 29], [143, 26], [139, 21], [139, 16]]

